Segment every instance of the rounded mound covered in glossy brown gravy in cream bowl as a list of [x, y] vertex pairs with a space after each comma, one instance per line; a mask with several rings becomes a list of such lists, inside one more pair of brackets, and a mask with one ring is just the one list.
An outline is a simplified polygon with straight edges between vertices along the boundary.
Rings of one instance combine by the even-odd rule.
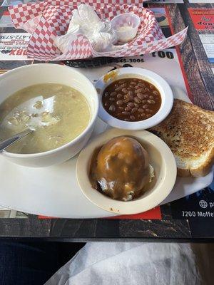
[[89, 179], [93, 188], [112, 199], [140, 197], [151, 180], [148, 153], [133, 138], [113, 138], [93, 152]]

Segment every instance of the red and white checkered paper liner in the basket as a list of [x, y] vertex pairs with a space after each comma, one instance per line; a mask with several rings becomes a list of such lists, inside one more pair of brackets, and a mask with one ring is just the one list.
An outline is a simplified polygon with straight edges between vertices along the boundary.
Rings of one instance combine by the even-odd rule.
[[[93, 50], [91, 43], [85, 36], [76, 34], [76, 37], [67, 44], [66, 52], [61, 53], [54, 45], [54, 38], [66, 33], [73, 9], [76, 9], [82, 2], [93, 5], [96, 14], [102, 20], [111, 20], [121, 13], [132, 12], [137, 14], [141, 18], [141, 26], [136, 38], [116, 51], [101, 53]], [[121, 2], [128, 4], [121, 5]], [[98, 56], [138, 56], [139, 54], [152, 53], [170, 46], [176, 46], [182, 43], [187, 33], [187, 28], [185, 28], [183, 31], [165, 38], [153, 12], [143, 8], [142, 1], [139, 4], [139, 0], [74, 0], [72, 3], [71, 1], [44, 1], [36, 4], [11, 6], [9, 12], [16, 28], [22, 28], [31, 33], [27, 56], [39, 61], [59, 61]]]

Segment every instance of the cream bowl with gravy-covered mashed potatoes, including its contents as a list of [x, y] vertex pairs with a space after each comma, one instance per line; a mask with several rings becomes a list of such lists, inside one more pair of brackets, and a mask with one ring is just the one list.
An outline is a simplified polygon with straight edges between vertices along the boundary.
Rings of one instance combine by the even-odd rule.
[[173, 190], [176, 175], [170, 148], [146, 130], [107, 130], [83, 148], [76, 164], [83, 194], [116, 214], [158, 206]]

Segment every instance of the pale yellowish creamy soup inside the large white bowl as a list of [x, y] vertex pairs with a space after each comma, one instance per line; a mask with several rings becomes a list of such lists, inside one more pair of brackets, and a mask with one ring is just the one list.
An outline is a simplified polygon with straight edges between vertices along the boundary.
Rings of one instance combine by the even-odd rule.
[[78, 90], [54, 83], [29, 86], [1, 103], [0, 139], [31, 128], [34, 133], [15, 142], [7, 151], [45, 152], [80, 135], [90, 117], [88, 102]]

